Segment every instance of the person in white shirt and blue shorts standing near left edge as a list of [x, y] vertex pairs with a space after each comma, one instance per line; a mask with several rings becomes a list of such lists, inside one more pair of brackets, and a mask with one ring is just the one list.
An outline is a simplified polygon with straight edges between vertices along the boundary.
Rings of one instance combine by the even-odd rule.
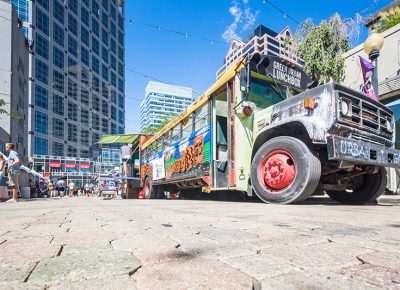
[[19, 172], [21, 170], [21, 160], [19, 159], [18, 153], [14, 151], [14, 144], [7, 143], [6, 151], [8, 152], [7, 160], [7, 173], [8, 173], [8, 185], [12, 188], [13, 197], [7, 202], [17, 202], [18, 201], [18, 191], [19, 191]]

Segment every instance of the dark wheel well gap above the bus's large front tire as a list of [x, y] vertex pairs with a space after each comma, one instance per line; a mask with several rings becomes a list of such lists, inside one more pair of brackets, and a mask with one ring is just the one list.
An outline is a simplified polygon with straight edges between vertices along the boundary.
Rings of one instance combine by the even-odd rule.
[[268, 140], [279, 137], [279, 136], [290, 136], [303, 141], [307, 146], [312, 146], [312, 141], [308, 135], [307, 129], [300, 122], [292, 122], [271, 128], [262, 132], [258, 135], [256, 141], [254, 142], [253, 151], [251, 153], [251, 160], [253, 160], [254, 155], [257, 150]]

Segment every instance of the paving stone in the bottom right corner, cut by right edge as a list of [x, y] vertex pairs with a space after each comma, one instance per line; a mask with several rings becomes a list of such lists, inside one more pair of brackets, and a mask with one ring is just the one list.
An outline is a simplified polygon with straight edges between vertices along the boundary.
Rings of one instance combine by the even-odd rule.
[[347, 277], [386, 289], [400, 289], [400, 271], [390, 268], [361, 264], [341, 271]]

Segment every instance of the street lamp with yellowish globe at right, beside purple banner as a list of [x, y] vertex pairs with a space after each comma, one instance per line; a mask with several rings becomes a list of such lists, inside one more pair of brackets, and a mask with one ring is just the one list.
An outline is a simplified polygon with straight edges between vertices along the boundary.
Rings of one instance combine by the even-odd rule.
[[364, 42], [364, 51], [368, 55], [369, 59], [372, 62], [373, 70], [372, 70], [372, 86], [374, 87], [374, 91], [376, 97], [379, 98], [378, 93], [378, 57], [379, 51], [383, 46], [383, 36], [373, 31]]

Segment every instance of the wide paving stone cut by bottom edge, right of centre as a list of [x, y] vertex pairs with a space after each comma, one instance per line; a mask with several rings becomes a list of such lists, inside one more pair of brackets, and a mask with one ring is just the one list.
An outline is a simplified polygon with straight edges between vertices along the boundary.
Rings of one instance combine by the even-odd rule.
[[261, 281], [261, 289], [348, 289], [367, 290], [380, 289], [374, 285], [367, 284], [350, 277], [341, 276], [335, 273], [308, 273], [291, 272], [289, 274], [264, 279]]

